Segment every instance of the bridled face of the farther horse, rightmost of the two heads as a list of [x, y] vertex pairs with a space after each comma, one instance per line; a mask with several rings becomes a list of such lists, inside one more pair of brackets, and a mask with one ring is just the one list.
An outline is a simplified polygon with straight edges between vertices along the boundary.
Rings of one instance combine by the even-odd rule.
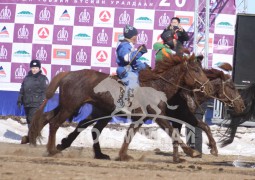
[[221, 81], [218, 91], [219, 100], [234, 108], [236, 113], [241, 113], [245, 109], [242, 97], [236, 89], [231, 78]]

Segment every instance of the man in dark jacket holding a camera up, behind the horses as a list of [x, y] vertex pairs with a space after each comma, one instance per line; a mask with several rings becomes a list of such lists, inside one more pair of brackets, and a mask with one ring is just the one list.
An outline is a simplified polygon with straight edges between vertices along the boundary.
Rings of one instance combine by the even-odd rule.
[[182, 55], [181, 49], [183, 48], [183, 43], [189, 40], [189, 36], [180, 25], [180, 22], [181, 20], [178, 17], [173, 17], [171, 23], [161, 34], [161, 39], [170, 49], [176, 51], [177, 54]]

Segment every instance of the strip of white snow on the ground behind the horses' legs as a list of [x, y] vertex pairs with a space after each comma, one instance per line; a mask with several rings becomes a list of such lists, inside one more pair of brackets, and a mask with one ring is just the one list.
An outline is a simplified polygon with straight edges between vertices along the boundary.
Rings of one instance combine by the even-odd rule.
[[[24, 120], [23, 120], [24, 121]], [[101, 147], [103, 148], [120, 148], [126, 133], [126, 127], [129, 124], [121, 124], [118, 128], [105, 128], [99, 138]], [[161, 151], [172, 151], [172, 141], [169, 136], [156, 124], [143, 125], [140, 133], [137, 133], [130, 144], [130, 149], [137, 150], [154, 150], [156, 148]], [[225, 128], [217, 125], [210, 126], [216, 142], [225, 132]], [[61, 127], [57, 131], [56, 142], [60, 143], [61, 139], [66, 137], [74, 127]], [[88, 127], [82, 131], [78, 138], [73, 142], [72, 146], [77, 147], [92, 147], [92, 127]], [[0, 119], [0, 142], [17, 143], [21, 141], [21, 137], [26, 135], [28, 131], [27, 124], [20, 124], [12, 119]], [[42, 130], [42, 144], [47, 143], [49, 126], [46, 125]], [[185, 129], [182, 129], [185, 132]], [[218, 145], [219, 154], [221, 155], [242, 155], [255, 156], [255, 128], [239, 127], [237, 136], [234, 142], [227, 147], [220, 148]], [[182, 137], [185, 141], [185, 137]], [[207, 147], [208, 139], [203, 134], [203, 153], [209, 154], [210, 150]], [[181, 149], [181, 148], [180, 148]]]

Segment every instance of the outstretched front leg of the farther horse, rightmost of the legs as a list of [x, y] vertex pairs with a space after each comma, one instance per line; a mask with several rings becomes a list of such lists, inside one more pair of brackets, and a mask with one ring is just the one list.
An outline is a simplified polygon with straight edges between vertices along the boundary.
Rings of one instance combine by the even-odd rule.
[[210, 153], [214, 156], [218, 156], [218, 149], [216, 146], [216, 142], [212, 136], [210, 127], [206, 123], [204, 123], [203, 121], [200, 121], [200, 120], [198, 120], [197, 127], [202, 129], [206, 133], [208, 140], [209, 140], [209, 147], [211, 148]]

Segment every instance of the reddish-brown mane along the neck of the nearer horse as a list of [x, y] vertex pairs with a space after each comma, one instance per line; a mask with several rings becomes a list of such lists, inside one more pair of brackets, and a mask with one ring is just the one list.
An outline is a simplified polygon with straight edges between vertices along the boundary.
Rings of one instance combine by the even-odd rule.
[[169, 69], [172, 69], [178, 64], [181, 64], [185, 61], [192, 61], [194, 60], [194, 57], [191, 57], [190, 59], [187, 59], [187, 57], [180, 57], [177, 55], [170, 55], [169, 57], [164, 56], [163, 60], [158, 61], [156, 63], [155, 69], [152, 70], [151, 68], [147, 68], [145, 70], [142, 70], [139, 73], [139, 81], [140, 82], [148, 82], [151, 80], [159, 79], [159, 74], [162, 74]]

